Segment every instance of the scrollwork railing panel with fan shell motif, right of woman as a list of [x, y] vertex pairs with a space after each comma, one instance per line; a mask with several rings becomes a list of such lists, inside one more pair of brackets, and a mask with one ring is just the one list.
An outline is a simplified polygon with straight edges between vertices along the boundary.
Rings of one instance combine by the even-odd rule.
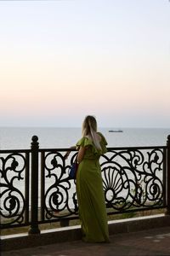
[[163, 203], [163, 150], [111, 150], [100, 164], [106, 206], [115, 211]]

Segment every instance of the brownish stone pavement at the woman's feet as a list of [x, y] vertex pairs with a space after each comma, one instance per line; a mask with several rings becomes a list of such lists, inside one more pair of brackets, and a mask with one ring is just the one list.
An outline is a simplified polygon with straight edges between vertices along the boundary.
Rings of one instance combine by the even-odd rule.
[[2, 256], [170, 256], [170, 227], [122, 233], [111, 243], [70, 241], [3, 252]]

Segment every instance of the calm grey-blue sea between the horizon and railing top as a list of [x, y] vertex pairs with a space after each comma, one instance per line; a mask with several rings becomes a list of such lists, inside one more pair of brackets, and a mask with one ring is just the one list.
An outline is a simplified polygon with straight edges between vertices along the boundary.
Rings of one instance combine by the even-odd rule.
[[[169, 129], [124, 128], [123, 132], [109, 132], [114, 128], [100, 128], [108, 147], [163, 146]], [[37, 135], [40, 148], [69, 148], [81, 138], [81, 128], [0, 128], [0, 149], [31, 147], [31, 137]]]

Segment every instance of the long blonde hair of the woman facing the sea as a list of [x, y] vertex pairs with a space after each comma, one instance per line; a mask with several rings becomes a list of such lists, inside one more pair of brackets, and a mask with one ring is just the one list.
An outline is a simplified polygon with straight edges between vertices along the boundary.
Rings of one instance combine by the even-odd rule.
[[97, 136], [97, 121], [92, 115], [86, 116], [82, 123], [82, 137], [88, 136], [92, 137], [95, 147], [101, 150]]

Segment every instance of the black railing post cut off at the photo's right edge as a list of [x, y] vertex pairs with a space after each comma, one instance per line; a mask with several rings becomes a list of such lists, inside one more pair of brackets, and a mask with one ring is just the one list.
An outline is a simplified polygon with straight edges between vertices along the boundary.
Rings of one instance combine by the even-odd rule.
[[167, 136], [167, 211], [166, 214], [170, 215], [170, 135]]

